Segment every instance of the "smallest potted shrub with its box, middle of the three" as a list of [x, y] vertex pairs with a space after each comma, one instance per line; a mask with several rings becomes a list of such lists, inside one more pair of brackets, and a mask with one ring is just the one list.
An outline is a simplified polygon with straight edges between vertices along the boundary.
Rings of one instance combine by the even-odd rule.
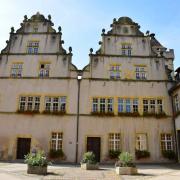
[[95, 159], [95, 154], [93, 152], [86, 152], [83, 155], [81, 161], [81, 168], [85, 170], [96, 170], [99, 169], [99, 164]]

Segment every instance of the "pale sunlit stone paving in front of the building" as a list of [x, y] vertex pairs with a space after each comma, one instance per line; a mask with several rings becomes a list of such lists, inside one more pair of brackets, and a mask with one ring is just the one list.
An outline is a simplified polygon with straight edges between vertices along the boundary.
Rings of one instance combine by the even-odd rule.
[[137, 165], [138, 175], [118, 176], [113, 166], [86, 171], [75, 165], [53, 165], [48, 175], [27, 174], [23, 163], [0, 162], [0, 180], [180, 180], [180, 164]]

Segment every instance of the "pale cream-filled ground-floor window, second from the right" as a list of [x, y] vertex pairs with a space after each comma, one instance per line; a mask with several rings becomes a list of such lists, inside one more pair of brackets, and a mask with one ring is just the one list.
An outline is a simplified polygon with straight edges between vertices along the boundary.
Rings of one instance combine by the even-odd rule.
[[147, 135], [140, 133], [136, 135], [136, 149], [143, 151], [147, 150]]

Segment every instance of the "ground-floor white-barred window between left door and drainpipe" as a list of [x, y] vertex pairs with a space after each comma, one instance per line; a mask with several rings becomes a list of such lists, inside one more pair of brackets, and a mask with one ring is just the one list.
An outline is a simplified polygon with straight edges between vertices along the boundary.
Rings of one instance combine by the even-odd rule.
[[63, 133], [53, 132], [51, 135], [51, 149], [62, 150]]

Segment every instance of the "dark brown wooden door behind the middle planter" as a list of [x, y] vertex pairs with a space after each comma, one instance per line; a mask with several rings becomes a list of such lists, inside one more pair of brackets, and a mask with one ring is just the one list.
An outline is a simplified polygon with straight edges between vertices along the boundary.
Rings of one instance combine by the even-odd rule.
[[93, 152], [95, 154], [96, 161], [100, 162], [101, 138], [87, 137], [87, 151]]

